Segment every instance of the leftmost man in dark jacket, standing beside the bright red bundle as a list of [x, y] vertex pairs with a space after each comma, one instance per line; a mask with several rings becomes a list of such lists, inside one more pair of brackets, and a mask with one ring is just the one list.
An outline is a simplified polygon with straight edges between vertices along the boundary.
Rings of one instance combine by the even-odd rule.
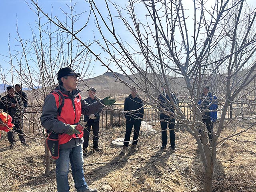
[[12, 123], [14, 124], [12, 130], [7, 133], [10, 146], [13, 147], [16, 143], [14, 133], [18, 133], [22, 145], [28, 146], [22, 130], [23, 102], [20, 96], [15, 94], [13, 86], [7, 87], [7, 95], [1, 98], [0, 108], [12, 117]]

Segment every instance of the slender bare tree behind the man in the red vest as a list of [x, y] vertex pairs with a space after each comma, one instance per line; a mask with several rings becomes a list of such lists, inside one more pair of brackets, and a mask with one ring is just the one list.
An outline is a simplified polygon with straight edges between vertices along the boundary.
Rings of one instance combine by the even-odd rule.
[[[55, 25], [41, 13], [39, 7], [30, 5], [31, 10], [37, 16], [36, 25], [31, 26], [31, 36], [29, 40], [23, 39], [18, 30], [17, 23], [17, 49], [11, 51], [9, 44], [9, 56], [6, 56], [6, 63], [10, 65], [10, 72], [2, 74], [2, 79], [6, 76], [12, 76], [12, 82], [20, 83], [23, 88], [29, 88], [29, 112], [36, 114], [36, 118], [29, 118], [25, 114], [25, 121], [34, 125], [37, 135], [26, 132], [27, 137], [31, 139], [46, 139], [47, 134], [40, 125], [39, 119], [41, 115], [44, 98], [57, 85], [56, 74], [60, 68], [65, 66], [72, 67], [79, 71], [82, 76], [81, 80], [88, 74], [90, 66], [91, 54], [80, 46], [79, 42], [69, 33], [58, 30]], [[66, 15], [65, 26], [70, 28], [72, 33], [76, 33], [76, 22], [78, 18], [85, 12], [77, 14], [73, 11], [76, 4], [66, 5], [70, 9], [70, 14]], [[86, 14], [88, 17], [90, 13]], [[78, 28], [80, 30], [80, 27]], [[4, 82], [12, 84], [12, 82]], [[85, 86], [85, 85], [84, 85]], [[34, 130], [35, 131], [35, 130]], [[45, 140], [46, 141], [46, 140]], [[50, 154], [45, 145], [46, 152], [46, 170], [45, 174], [49, 174]]]

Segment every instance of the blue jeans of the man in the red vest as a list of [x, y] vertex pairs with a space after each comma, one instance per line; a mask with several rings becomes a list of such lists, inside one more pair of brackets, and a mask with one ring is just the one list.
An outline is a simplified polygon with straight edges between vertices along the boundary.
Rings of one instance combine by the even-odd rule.
[[72, 176], [78, 192], [88, 188], [84, 179], [84, 158], [82, 146], [60, 149], [60, 157], [56, 160], [56, 180], [58, 192], [69, 192], [68, 170], [71, 164]]

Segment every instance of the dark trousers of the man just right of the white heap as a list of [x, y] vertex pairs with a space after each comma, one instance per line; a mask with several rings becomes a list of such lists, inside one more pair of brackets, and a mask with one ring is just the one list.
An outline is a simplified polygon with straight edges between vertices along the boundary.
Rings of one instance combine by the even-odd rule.
[[170, 129], [171, 147], [175, 148], [175, 131], [171, 130], [171, 129], [174, 129], [174, 127], [175, 127], [175, 119], [174, 118], [164, 118], [164, 119], [160, 118], [160, 120], [163, 120], [163, 121], [160, 121], [161, 129], [165, 130], [165, 131], [162, 131], [162, 146], [167, 145], [167, 131], [166, 131], [166, 129], [167, 129], [167, 125], [168, 125], [168, 128]]

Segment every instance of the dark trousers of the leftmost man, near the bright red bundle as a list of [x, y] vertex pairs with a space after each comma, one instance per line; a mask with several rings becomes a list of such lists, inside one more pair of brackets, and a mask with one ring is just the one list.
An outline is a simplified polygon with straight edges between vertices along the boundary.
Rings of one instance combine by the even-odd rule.
[[14, 124], [12, 131], [7, 132], [8, 141], [10, 142], [11, 145], [13, 145], [16, 142], [16, 140], [14, 139], [14, 133], [18, 133], [20, 142], [25, 143], [26, 140], [24, 138], [24, 132], [22, 130], [22, 122], [17, 120], [12, 120], [12, 123]]

